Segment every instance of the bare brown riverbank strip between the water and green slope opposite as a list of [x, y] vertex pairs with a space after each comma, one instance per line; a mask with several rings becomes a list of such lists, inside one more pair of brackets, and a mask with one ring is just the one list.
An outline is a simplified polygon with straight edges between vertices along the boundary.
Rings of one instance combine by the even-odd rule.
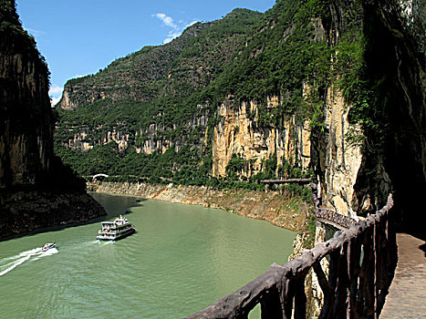
[[213, 190], [204, 186], [107, 181], [89, 182], [88, 190], [222, 209], [257, 220], [269, 221], [295, 232], [306, 225], [310, 209], [307, 202], [277, 191]]

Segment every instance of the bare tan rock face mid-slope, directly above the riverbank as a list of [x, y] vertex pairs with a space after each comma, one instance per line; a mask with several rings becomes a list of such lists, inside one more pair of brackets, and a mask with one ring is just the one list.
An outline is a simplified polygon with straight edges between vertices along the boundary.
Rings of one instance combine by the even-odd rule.
[[[279, 98], [267, 98], [266, 109], [279, 104]], [[273, 125], [259, 125], [258, 102], [236, 103], [228, 98], [217, 109], [220, 120], [213, 131], [213, 176], [226, 176], [226, 166], [233, 155], [247, 164], [239, 173], [247, 178], [262, 171], [265, 160], [276, 156], [277, 165], [286, 161], [299, 163], [303, 170], [310, 164], [309, 121], [296, 122], [289, 116], [282, 129]], [[277, 172], [275, 172], [277, 174]]]

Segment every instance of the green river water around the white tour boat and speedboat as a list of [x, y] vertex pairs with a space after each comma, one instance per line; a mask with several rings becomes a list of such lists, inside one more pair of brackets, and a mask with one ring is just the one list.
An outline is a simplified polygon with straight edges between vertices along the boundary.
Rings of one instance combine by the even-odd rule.
[[[109, 216], [0, 242], [0, 318], [182, 318], [286, 262], [296, 235], [195, 205], [93, 197]], [[99, 221], [130, 206], [138, 232], [97, 242]]]

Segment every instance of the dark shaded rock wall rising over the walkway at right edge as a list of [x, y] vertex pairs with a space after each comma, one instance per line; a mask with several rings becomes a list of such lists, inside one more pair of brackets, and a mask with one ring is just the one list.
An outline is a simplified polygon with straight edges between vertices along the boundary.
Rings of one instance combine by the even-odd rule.
[[[426, 4], [365, 1], [365, 10], [366, 61], [370, 80], [379, 84], [380, 119], [387, 124], [385, 150], [376, 162], [389, 180], [380, 184], [379, 192], [390, 184], [396, 190], [401, 227], [424, 234], [416, 221], [423, 218], [419, 208], [426, 191]], [[362, 165], [368, 167], [366, 161]], [[356, 189], [366, 184], [360, 180]]]

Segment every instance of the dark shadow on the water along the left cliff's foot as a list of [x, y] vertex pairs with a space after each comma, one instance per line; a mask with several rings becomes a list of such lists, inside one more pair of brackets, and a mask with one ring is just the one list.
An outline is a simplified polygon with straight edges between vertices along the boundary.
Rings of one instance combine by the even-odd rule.
[[[105, 207], [104, 205], [102, 205], [102, 207], [104, 207], [105, 211], [107, 211], [107, 215], [104, 216], [100, 216], [100, 217], [96, 217], [93, 218], [91, 220], [88, 221], [80, 221], [80, 222], [74, 222], [74, 223], [69, 223], [66, 225], [59, 225], [59, 226], [52, 226], [52, 227], [44, 227], [44, 228], [39, 228], [36, 229], [32, 232], [26, 232], [23, 234], [19, 234], [16, 236], [10, 236], [10, 237], [5, 237], [0, 239], [0, 242], [4, 242], [4, 241], [8, 241], [11, 239], [16, 239], [16, 238], [21, 238], [21, 237], [25, 237], [25, 236], [32, 236], [35, 235], [37, 233], [41, 233], [41, 232], [59, 232], [62, 231], [64, 229], [67, 228], [71, 228], [71, 227], [78, 227], [78, 226], [82, 226], [82, 225], [88, 225], [88, 224], [92, 224], [92, 223], [98, 223], [101, 221], [108, 221], [108, 220], [112, 220], [116, 217], [118, 217], [120, 214], [124, 215], [127, 213], [131, 213], [131, 208], [132, 207], [140, 207], [142, 206], [142, 202], [143, 201], [147, 201], [146, 199], [137, 197], [137, 196], [121, 196], [121, 195], [109, 195], [109, 194], [105, 194], [105, 193], [95, 193], [95, 192], [88, 192], [88, 194], [93, 197], [93, 199], [95, 201], [98, 201], [101, 205], [103, 203], [107, 203], [107, 207]], [[130, 210], [130, 212], [126, 212], [126, 210]]]

